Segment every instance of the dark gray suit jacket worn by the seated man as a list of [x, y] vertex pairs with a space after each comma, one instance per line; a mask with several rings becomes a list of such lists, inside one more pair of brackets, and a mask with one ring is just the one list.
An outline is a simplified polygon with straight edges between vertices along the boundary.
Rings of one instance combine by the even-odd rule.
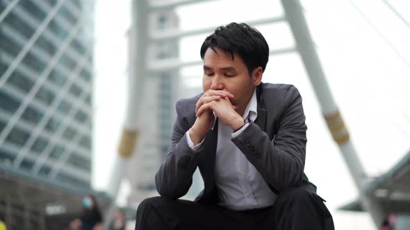
[[[192, 175], [199, 167], [204, 191], [196, 201], [215, 204], [218, 202], [214, 184], [218, 129], [206, 134], [200, 152], [193, 152], [186, 139], [186, 132], [195, 122], [195, 103], [201, 96], [177, 102], [172, 145], [156, 173], [155, 182], [161, 196], [178, 199], [188, 192]], [[293, 85], [262, 83], [256, 88], [256, 97], [258, 117], [232, 139], [233, 143], [274, 193], [293, 186], [306, 186], [315, 192], [315, 186], [304, 175], [307, 127], [299, 91]]]

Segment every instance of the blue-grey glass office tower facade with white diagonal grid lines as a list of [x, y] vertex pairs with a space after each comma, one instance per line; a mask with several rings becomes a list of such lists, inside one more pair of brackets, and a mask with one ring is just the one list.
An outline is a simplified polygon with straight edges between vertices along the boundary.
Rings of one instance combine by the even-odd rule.
[[[3, 12], [12, 1], [0, 2]], [[19, 1], [1, 21], [0, 163], [88, 188], [92, 21], [83, 10], [92, 6], [85, 4]]]

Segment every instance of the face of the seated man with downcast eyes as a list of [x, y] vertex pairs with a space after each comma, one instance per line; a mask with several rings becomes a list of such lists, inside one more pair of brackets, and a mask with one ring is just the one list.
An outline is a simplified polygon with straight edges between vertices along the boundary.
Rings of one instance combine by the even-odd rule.
[[231, 99], [232, 105], [238, 106], [238, 112], [243, 112], [256, 85], [261, 82], [261, 67], [259, 71], [258, 68], [254, 70], [251, 78], [239, 55], [235, 53], [232, 59], [230, 53], [219, 48], [215, 48], [215, 51], [208, 48], [205, 52], [202, 89], [204, 91], [208, 89], [229, 91], [234, 96]]

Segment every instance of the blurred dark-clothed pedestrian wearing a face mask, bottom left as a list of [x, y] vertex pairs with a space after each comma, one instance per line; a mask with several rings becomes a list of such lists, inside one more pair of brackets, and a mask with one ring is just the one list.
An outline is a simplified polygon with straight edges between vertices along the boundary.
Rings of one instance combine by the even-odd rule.
[[79, 218], [74, 219], [69, 227], [74, 230], [100, 230], [102, 229], [102, 217], [97, 200], [93, 195], [85, 195], [83, 198], [83, 211]]

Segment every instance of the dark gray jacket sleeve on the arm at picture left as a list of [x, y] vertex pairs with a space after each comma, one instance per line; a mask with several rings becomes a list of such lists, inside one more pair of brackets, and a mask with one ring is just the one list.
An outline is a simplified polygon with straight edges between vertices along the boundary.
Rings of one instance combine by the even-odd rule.
[[161, 196], [170, 199], [186, 195], [192, 184], [192, 175], [197, 168], [199, 156], [202, 154], [194, 152], [186, 139], [186, 132], [191, 125], [183, 114], [190, 111], [188, 105], [179, 101], [176, 108], [177, 121], [172, 131], [172, 143], [155, 176], [156, 190]]

